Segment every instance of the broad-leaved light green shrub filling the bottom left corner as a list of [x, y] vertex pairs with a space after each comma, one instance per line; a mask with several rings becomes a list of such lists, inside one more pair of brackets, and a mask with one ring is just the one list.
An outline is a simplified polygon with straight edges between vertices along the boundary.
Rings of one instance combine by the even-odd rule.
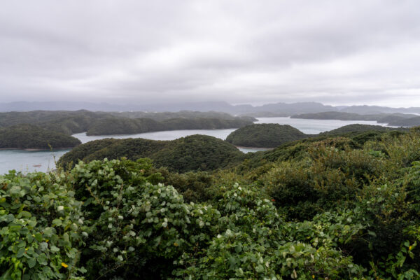
[[0, 279], [74, 279], [84, 232], [64, 176], [0, 176]]

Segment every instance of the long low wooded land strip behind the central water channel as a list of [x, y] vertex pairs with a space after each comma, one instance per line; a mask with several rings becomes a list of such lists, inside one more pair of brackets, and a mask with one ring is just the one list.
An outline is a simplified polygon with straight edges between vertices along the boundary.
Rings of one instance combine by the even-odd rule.
[[215, 130], [243, 127], [249, 120], [221, 120], [217, 118], [176, 118], [158, 122], [151, 118], [104, 118], [95, 121], [87, 135], [137, 134], [164, 130]]

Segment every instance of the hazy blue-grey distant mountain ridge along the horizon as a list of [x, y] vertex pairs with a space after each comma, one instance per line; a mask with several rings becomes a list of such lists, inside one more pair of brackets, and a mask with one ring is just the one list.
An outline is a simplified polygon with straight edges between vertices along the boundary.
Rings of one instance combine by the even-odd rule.
[[272, 103], [261, 106], [250, 104], [232, 105], [228, 102], [179, 102], [161, 104], [109, 104], [106, 102], [10, 102], [0, 103], [0, 112], [10, 111], [144, 111], [144, 112], [178, 112], [178, 111], [217, 111], [235, 115], [253, 117], [286, 117], [303, 113], [322, 113], [338, 111], [343, 113], [358, 113], [371, 115], [379, 113], [416, 113], [420, 114], [420, 107], [391, 108], [385, 106], [330, 106], [319, 102]]

